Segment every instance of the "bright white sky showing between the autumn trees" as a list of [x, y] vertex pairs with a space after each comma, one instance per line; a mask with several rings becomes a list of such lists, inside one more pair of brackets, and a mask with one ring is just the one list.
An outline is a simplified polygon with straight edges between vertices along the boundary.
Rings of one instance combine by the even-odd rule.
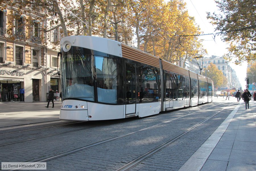
[[[214, 33], [214, 26], [210, 24], [210, 20], [207, 20], [207, 12], [214, 12], [218, 11], [218, 7], [214, 0], [183, 0], [187, 3], [187, 10], [190, 16], [195, 17], [196, 23], [201, 28], [201, 31], [204, 34]], [[219, 32], [218, 30], [216, 32]], [[201, 39], [204, 39], [202, 42], [204, 48], [207, 49], [208, 56], [216, 55], [216, 56], [223, 56], [223, 54], [227, 53], [228, 51], [226, 48], [228, 44], [222, 42], [220, 36], [215, 37], [215, 41], [213, 40], [213, 35], [208, 36], [200, 36]], [[207, 57], [208, 57], [207, 56]], [[247, 69], [247, 62], [244, 62], [241, 66], [237, 66], [234, 62], [229, 63], [230, 66], [236, 71], [236, 75], [239, 78], [241, 86], [245, 89], [245, 80], [246, 77], [246, 69]]]

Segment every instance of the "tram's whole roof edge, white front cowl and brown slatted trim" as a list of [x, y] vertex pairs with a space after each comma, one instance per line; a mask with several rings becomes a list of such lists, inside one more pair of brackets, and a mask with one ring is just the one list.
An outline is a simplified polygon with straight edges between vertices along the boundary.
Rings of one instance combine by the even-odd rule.
[[[159, 57], [143, 52], [142, 50], [133, 48], [131, 46], [128, 46], [126, 44], [120, 43], [112, 39], [95, 36], [67, 36], [61, 39], [61, 46], [65, 43], [65, 41], [69, 41], [71, 43], [71, 46], [88, 48], [110, 55], [131, 59], [150, 66], [155, 66], [157, 68], [160, 67]], [[193, 73], [192, 75], [196, 74], [195, 72], [189, 71], [185, 68], [172, 64], [171, 62], [168, 62], [163, 59], [162, 65], [164, 70], [169, 70], [172, 72], [178, 71], [179, 73], [185, 76], [189, 76], [189, 73]], [[198, 77], [200, 77], [200, 80], [206, 80], [207, 82], [205, 76], [198, 74]]]

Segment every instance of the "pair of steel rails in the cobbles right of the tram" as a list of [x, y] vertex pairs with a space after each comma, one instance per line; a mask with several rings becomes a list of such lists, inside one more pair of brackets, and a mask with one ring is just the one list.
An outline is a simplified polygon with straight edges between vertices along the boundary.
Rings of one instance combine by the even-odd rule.
[[[231, 104], [230, 104], [231, 105]], [[186, 135], [187, 133], [191, 132], [192, 130], [194, 130], [195, 128], [199, 127], [200, 125], [202, 125], [203, 123], [205, 123], [206, 121], [208, 121], [209, 119], [211, 119], [212, 117], [216, 116], [218, 113], [220, 113], [221, 111], [223, 111], [224, 109], [226, 109], [226, 107], [229, 107], [230, 105], [228, 106], [224, 106], [221, 110], [215, 112], [213, 115], [210, 115], [210, 117], [207, 117], [206, 119], [204, 119], [203, 121], [200, 121], [199, 123], [193, 125], [192, 127], [189, 127], [189, 129], [187, 129], [186, 131], [183, 131], [182, 133], [180, 133], [179, 135], [175, 136], [174, 138], [162, 143], [161, 145], [157, 146], [156, 148], [154, 148], [153, 150], [150, 150], [149, 152], [143, 154], [142, 156], [136, 158], [135, 160], [133, 160], [132, 162], [129, 162], [128, 164], [126, 164], [125, 166], [119, 168], [120, 170], [127, 170], [129, 168], [132, 168], [133, 166], [135, 166], [136, 164], [139, 164], [141, 161], [145, 160], [146, 158], [152, 156], [153, 154], [155, 154], [156, 152], [158, 152], [159, 150], [161, 150], [162, 148], [164, 148], [165, 146], [171, 144], [172, 142], [176, 141], [177, 139], [183, 137], [184, 135]], [[192, 114], [192, 113], [191, 113]], [[187, 115], [190, 115], [190, 114], [187, 114]], [[184, 116], [181, 116], [181, 117], [184, 117]], [[167, 121], [164, 121], [163, 123], [168, 123], [170, 121], [173, 121], [173, 120], [176, 120], [176, 119], [179, 119], [181, 117], [178, 117], [178, 118], [174, 118], [174, 119], [170, 119], [170, 120], [167, 120]], [[140, 131], [143, 131], [143, 130], [146, 130], [146, 129], [150, 129], [152, 127], [155, 127], [157, 125], [161, 125], [163, 123], [158, 123], [158, 124], [155, 124], [155, 125], [152, 125], [150, 127], [146, 127], [146, 128], [143, 128], [143, 129], [140, 129], [140, 130], [137, 130], [137, 131], [133, 131], [131, 133], [127, 133], [125, 135], [120, 135], [120, 136], [117, 136], [117, 137], [113, 137], [113, 138], [110, 138], [110, 139], [106, 139], [104, 141], [100, 141], [100, 142], [97, 142], [97, 143], [93, 143], [93, 144], [90, 144], [90, 145], [87, 145], [87, 146], [83, 146], [81, 148], [77, 148], [77, 149], [74, 149], [74, 150], [70, 150], [68, 152], [64, 152], [64, 153], [61, 153], [61, 154], [58, 154], [58, 155], [55, 155], [55, 156], [52, 156], [52, 157], [49, 157], [49, 158], [44, 158], [42, 160], [38, 160], [38, 161], [35, 161], [35, 162], [48, 162], [48, 161], [51, 161], [51, 160], [54, 160], [54, 159], [57, 159], [57, 158], [60, 158], [60, 157], [64, 157], [64, 156], [67, 156], [67, 155], [70, 155], [70, 154], [73, 154], [73, 153], [76, 153], [76, 152], [79, 152], [79, 151], [82, 151], [82, 150], [85, 150], [87, 148], [91, 148], [91, 147], [94, 147], [94, 146], [98, 146], [98, 145], [101, 145], [101, 144], [105, 144], [105, 143], [108, 143], [110, 141], [114, 141], [114, 140], [117, 140], [117, 139], [120, 139], [120, 138], [123, 138], [123, 137], [126, 137], [126, 136], [129, 136], [129, 135], [132, 135], [134, 133], [138, 133]], [[118, 170], [119, 170], [118, 169]]]

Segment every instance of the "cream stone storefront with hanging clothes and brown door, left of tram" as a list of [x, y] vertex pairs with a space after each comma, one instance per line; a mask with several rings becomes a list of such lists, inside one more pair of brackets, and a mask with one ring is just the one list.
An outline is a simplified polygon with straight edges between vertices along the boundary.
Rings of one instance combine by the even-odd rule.
[[46, 79], [44, 70], [0, 66], [0, 102], [46, 101]]

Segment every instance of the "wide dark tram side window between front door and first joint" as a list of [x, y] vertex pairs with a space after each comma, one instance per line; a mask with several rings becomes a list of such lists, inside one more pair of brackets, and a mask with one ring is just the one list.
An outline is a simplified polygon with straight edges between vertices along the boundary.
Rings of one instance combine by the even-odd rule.
[[159, 101], [160, 84], [160, 71], [157, 68], [139, 66], [140, 103]]

